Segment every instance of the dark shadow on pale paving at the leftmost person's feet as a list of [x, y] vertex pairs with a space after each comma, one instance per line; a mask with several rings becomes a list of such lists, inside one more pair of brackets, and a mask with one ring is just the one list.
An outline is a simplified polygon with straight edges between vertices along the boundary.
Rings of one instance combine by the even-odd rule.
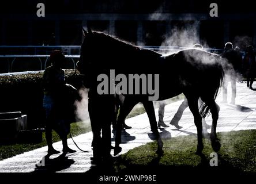
[[56, 172], [69, 168], [75, 161], [69, 159], [66, 154], [61, 154], [57, 158], [50, 158], [51, 155], [46, 155], [36, 164], [35, 173], [37, 172]]

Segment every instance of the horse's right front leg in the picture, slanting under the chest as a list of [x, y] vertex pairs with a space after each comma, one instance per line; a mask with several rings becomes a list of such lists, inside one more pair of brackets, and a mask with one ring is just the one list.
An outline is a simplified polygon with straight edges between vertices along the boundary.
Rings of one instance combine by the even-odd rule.
[[149, 122], [151, 131], [156, 135], [157, 140], [157, 154], [163, 155], [163, 141], [160, 137], [160, 134], [157, 129], [157, 122], [156, 122], [156, 114], [155, 109], [152, 101], [144, 101], [143, 102], [144, 108], [146, 110], [146, 114], [148, 114]]

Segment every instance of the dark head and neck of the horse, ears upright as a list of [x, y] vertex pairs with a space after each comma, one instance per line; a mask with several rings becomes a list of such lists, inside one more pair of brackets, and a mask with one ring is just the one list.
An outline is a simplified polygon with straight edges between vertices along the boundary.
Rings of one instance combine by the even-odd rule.
[[125, 59], [137, 51], [137, 47], [126, 41], [117, 39], [103, 32], [82, 29], [84, 41], [81, 45], [80, 62], [78, 70], [85, 74], [85, 67], [109, 69], [120, 65]]

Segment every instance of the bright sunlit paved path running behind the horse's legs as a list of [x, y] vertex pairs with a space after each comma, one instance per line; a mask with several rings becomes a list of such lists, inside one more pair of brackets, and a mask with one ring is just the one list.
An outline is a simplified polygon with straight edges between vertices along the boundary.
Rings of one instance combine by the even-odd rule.
[[[256, 86], [253, 86], [256, 87]], [[228, 97], [231, 97], [230, 86], [228, 86]], [[238, 131], [242, 129], [256, 129], [256, 91], [250, 90], [246, 87], [245, 83], [237, 83], [237, 98], [236, 105], [230, 104], [220, 104], [221, 94], [217, 98], [217, 103], [220, 105], [220, 116], [217, 124], [217, 132], [224, 131]], [[230, 100], [230, 99], [229, 99]], [[182, 101], [175, 102], [173, 104], [165, 106], [164, 121], [169, 124], [171, 118], [174, 116], [178, 106]], [[156, 109], [157, 110], [157, 109]], [[156, 111], [157, 112], [157, 111]], [[157, 113], [156, 113], [157, 114]], [[157, 116], [158, 119], [158, 116]], [[206, 122], [211, 124], [211, 117], [206, 118]], [[132, 129], [128, 129], [123, 133], [123, 144], [121, 147], [123, 151], [121, 154], [124, 154], [128, 150], [138, 147], [142, 144], [152, 141], [152, 134], [150, 133], [149, 121], [146, 114], [141, 114], [126, 120], [126, 123], [132, 126]], [[196, 133], [196, 128], [193, 121], [193, 116], [189, 111], [189, 108], [183, 113], [183, 117], [179, 123], [183, 128], [178, 130], [174, 126], [169, 128], [160, 129], [161, 137], [170, 138], [181, 135], [191, 135]], [[210, 129], [205, 131], [210, 132]], [[92, 133], [85, 133], [74, 137], [74, 140], [77, 142], [78, 146], [84, 150], [88, 150], [88, 153], [77, 151], [74, 154], [68, 154], [68, 159], [65, 160], [65, 164], [53, 168], [57, 172], [85, 172], [88, 171], [91, 167], [91, 141]], [[73, 144], [72, 140], [68, 140], [70, 148], [77, 150], [76, 146]], [[114, 140], [112, 142], [114, 145]], [[54, 143], [54, 147], [61, 151], [62, 144], [61, 142]], [[5, 159], [0, 161], [0, 172], [33, 172], [37, 171], [35, 164], [42, 160], [43, 156], [47, 155], [47, 147], [39, 148], [37, 150], [25, 152], [24, 154], [14, 156], [13, 158]], [[58, 157], [58, 158], [57, 158]], [[62, 156], [52, 155], [50, 159], [53, 159], [52, 162], [57, 163], [59, 159], [62, 159]]]

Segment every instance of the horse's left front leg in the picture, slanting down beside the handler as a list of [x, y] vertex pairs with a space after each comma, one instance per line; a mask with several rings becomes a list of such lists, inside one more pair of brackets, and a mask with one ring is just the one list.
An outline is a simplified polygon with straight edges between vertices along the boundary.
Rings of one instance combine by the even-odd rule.
[[138, 104], [138, 101], [135, 100], [133, 97], [129, 96], [125, 97], [125, 100], [123, 101], [123, 105], [120, 108], [118, 120], [116, 122], [114, 155], [118, 155], [122, 151], [122, 148], [119, 145], [122, 141], [121, 133], [123, 122], [125, 122], [125, 118], [128, 116], [128, 114], [131, 112], [136, 104]]

